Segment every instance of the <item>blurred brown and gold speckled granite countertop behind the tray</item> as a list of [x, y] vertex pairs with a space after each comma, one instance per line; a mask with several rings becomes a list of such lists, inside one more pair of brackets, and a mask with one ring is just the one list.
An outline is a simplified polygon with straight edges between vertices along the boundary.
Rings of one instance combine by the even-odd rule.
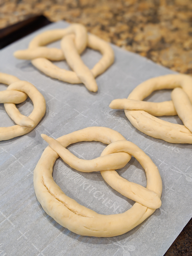
[[80, 22], [106, 41], [192, 75], [192, 0], [0, 0], [0, 29], [34, 14]]

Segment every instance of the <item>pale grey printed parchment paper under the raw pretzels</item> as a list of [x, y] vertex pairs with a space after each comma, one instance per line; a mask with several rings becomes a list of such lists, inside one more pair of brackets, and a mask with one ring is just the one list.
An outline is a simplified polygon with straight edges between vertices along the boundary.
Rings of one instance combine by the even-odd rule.
[[[15, 50], [26, 49], [38, 33], [67, 26], [63, 21], [51, 24], [0, 51], [0, 71], [33, 83], [45, 97], [47, 106], [44, 118], [33, 131], [0, 142], [0, 255], [162, 256], [192, 216], [192, 146], [170, 144], [149, 137], [131, 125], [124, 111], [112, 110], [108, 105], [113, 99], [128, 97], [142, 81], [174, 72], [112, 46], [115, 63], [96, 79], [98, 92], [93, 93], [83, 85], [70, 85], [47, 77], [30, 61], [13, 57]], [[60, 47], [60, 44], [55, 42], [50, 46]], [[100, 57], [100, 53], [91, 49], [82, 54], [89, 68]], [[69, 69], [64, 61], [56, 64]], [[5, 85], [0, 85], [0, 90], [5, 88]], [[147, 98], [156, 102], [169, 99], [170, 91], [166, 90]], [[30, 99], [18, 106], [25, 115], [33, 109]], [[14, 124], [3, 104], [0, 104], [0, 117], [1, 126]], [[161, 118], [182, 124], [177, 116]], [[57, 138], [88, 126], [106, 126], [121, 133], [151, 157], [162, 177], [160, 209], [118, 237], [95, 238], [74, 234], [48, 216], [35, 197], [33, 170], [47, 146], [40, 134]], [[69, 150], [82, 159], [93, 159], [100, 156], [105, 147], [100, 142], [82, 142], [69, 146]], [[133, 157], [118, 173], [129, 181], [146, 186], [145, 172]], [[99, 172], [80, 173], [61, 159], [54, 165], [53, 179], [66, 195], [101, 214], [122, 213], [134, 204], [106, 184]]]

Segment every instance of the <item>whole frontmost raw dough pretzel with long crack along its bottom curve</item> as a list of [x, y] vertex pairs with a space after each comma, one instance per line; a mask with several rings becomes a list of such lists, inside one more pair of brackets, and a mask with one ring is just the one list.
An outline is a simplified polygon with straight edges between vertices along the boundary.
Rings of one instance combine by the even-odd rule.
[[[44, 150], [34, 170], [35, 194], [45, 212], [63, 227], [79, 235], [117, 236], [142, 223], [156, 208], [161, 206], [162, 181], [156, 165], [139, 147], [126, 141], [117, 131], [106, 127], [88, 127], [64, 135], [57, 140], [45, 134], [41, 136], [49, 143], [49, 146]], [[103, 150], [101, 157], [96, 159], [79, 159], [66, 149], [70, 144], [93, 140], [110, 144]], [[123, 179], [115, 170], [109, 170], [125, 166], [131, 159], [130, 154], [145, 169], [146, 188]], [[53, 180], [53, 164], [59, 156], [72, 168], [79, 171], [100, 171], [105, 181], [122, 195], [135, 201], [142, 198], [144, 204], [150, 204], [154, 209], [136, 202], [131, 209], [124, 213], [101, 215], [81, 206], [66, 196]]]

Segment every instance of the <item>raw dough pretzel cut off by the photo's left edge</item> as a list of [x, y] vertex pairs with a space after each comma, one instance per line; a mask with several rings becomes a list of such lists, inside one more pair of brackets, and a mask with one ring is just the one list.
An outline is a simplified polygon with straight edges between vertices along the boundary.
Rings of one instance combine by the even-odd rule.
[[[13, 75], [0, 73], [0, 83], [9, 85], [6, 91], [0, 91], [0, 103], [4, 103], [7, 114], [17, 124], [10, 127], [0, 127], [1, 141], [32, 131], [45, 114], [46, 102], [34, 85], [27, 81], [21, 81]], [[19, 112], [15, 104], [24, 102], [28, 96], [32, 100], [34, 108], [29, 117], [26, 117]]]

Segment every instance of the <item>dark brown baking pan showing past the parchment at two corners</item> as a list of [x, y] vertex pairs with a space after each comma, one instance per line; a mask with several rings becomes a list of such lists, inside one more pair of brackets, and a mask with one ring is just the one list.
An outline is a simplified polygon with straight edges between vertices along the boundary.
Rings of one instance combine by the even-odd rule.
[[[0, 29], [0, 49], [44, 27], [50, 22], [45, 16], [32, 16], [24, 21]], [[192, 255], [192, 218], [163, 256]]]

